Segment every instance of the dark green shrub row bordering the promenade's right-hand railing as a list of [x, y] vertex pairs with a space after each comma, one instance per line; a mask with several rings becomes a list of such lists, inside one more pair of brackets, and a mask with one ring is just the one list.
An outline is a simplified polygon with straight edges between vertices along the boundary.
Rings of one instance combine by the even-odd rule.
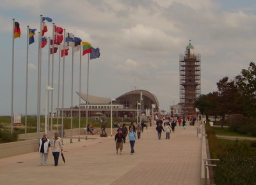
[[215, 183], [223, 185], [255, 184], [256, 142], [221, 145], [209, 124], [205, 126], [211, 158], [219, 158], [214, 168]]

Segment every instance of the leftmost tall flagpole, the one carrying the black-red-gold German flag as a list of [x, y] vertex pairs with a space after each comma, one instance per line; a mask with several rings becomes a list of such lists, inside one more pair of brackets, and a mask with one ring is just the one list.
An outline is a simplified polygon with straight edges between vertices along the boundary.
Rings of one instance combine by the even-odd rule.
[[11, 133], [13, 130], [13, 75], [14, 75], [14, 26], [15, 26], [15, 19], [12, 19], [12, 110], [11, 110]]

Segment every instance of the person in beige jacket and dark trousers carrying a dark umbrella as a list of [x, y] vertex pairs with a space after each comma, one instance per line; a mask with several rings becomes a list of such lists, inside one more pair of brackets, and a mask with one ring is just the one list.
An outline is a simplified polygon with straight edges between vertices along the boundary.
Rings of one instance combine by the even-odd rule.
[[63, 151], [61, 144], [61, 138], [58, 137], [58, 133], [54, 133], [54, 137], [51, 139], [52, 156], [54, 158], [54, 166], [58, 166], [60, 151]]

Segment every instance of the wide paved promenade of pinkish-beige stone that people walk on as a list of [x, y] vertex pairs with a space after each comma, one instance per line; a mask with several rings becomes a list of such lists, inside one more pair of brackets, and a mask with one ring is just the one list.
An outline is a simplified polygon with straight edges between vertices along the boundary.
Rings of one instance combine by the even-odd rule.
[[51, 153], [45, 166], [38, 166], [38, 152], [3, 158], [0, 184], [198, 185], [202, 140], [196, 137], [196, 126], [175, 129], [170, 140], [165, 139], [165, 133], [158, 140], [156, 126], [148, 127], [136, 140], [133, 155], [129, 140], [124, 144], [123, 154], [116, 154], [114, 136], [110, 135], [88, 135], [88, 140], [81, 138], [80, 142], [73, 138], [72, 144], [64, 138], [66, 164], [60, 156], [59, 165], [54, 166]]

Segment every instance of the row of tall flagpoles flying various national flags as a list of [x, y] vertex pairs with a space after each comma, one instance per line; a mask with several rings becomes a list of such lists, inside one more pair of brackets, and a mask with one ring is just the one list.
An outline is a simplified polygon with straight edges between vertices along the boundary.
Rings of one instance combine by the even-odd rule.
[[[39, 138], [39, 133], [40, 133], [40, 108], [41, 108], [41, 74], [42, 74], [42, 35], [44, 35], [45, 32], [47, 32], [47, 27], [45, 26], [44, 20], [47, 20], [48, 22], [52, 22], [51, 18], [49, 17], [42, 17], [40, 16], [40, 31], [38, 32], [38, 89], [37, 89], [37, 138]], [[42, 27], [44, 26], [44, 28]], [[46, 27], [46, 29], [45, 29]], [[29, 44], [34, 42], [31, 42], [31, 35], [35, 35], [35, 30], [31, 31], [32, 29], [29, 29], [29, 26], [27, 27], [27, 54], [26, 54], [26, 111], [25, 111], [25, 137], [26, 137], [26, 128], [27, 128], [27, 115], [28, 115], [28, 56], [29, 56]], [[61, 28], [61, 27], [58, 27]], [[17, 31], [18, 29], [18, 31]], [[49, 91], [48, 90], [53, 90], [53, 79], [54, 79], [54, 44], [55, 44], [55, 32], [56, 32], [56, 26], [54, 23], [52, 23], [52, 48], [51, 48], [51, 40], [49, 42], [49, 56], [48, 56], [48, 73], [47, 73], [47, 84], [46, 84], [46, 92], [45, 92], [45, 133], [47, 133], [47, 128], [49, 130], [49, 116], [47, 119], [48, 112], [49, 110]], [[61, 28], [62, 29], [62, 28]], [[63, 29], [64, 34], [63, 34], [63, 74], [62, 74], [62, 105], [61, 105], [61, 138], [63, 138], [63, 115], [64, 115], [64, 84], [65, 84], [65, 44], [67, 41], [66, 38], [66, 32], [65, 29]], [[62, 35], [62, 32], [61, 32]], [[72, 142], [72, 124], [73, 124], [73, 87], [74, 87], [74, 47], [75, 47], [75, 41], [76, 38], [74, 37], [73, 34], [72, 43], [72, 78], [71, 78], [71, 132], [70, 132], [70, 142]], [[70, 36], [70, 33], [68, 33], [68, 36]], [[13, 18], [13, 43], [12, 43], [12, 123], [11, 123], [11, 133], [13, 131], [13, 74], [14, 74], [14, 39], [20, 37], [20, 28], [19, 28], [19, 23], [15, 22], [15, 19]], [[58, 37], [58, 36], [57, 36]], [[58, 38], [57, 38], [58, 39]], [[70, 38], [68, 38], [70, 41]], [[72, 39], [72, 38], [71, 38]], [[82, 56], [82, 45], [83, 45], [83, 55], [88, 54], [88, 73], [87, 73], [87, 100], [86, 103], [88, 105], [88, 83], [89, 83], [89, 53], [91, 54], [90, 59], [95, 59], [100, 56], [99, 53], [99, 48], [95, 49], [90, 45], [90, 43], [87, 42], [82, 42], [80, 38], [79, 39], [79, 49], [80, 49], [80, 64], [79, 64], [79, 141], [80, 141], [80, 127], [81, 127], [81, 56]], [[69, 45], [69, 41], [67, 41], [67, 45]], [[60, 44], [60, 43], [59, 43]], [[51, 52], [52, 49], [52, 52]], [[96, 51], [97, 50], [97, 51]], [[97, 54], [93, 54], [92, 52], [96, 51]], [[52, 74], [51, 74], [51, 87], [49, 87], [50, 84], [50, 53], [52, 54]], [[58, 69], [58, 105], [57, 105], [57, 131], [59, 128], [59, 115], [60, 114], [60, 62], [61, 62], [61, 57], [62, 57], [62, 50], [61, 50], [61, 45], [60, 45], [60, 50], [59, 50], [59, 69]], [[52, 131], [52, 113], [53, 112], [53, 91], [51, 91], [51, 131]], [[88, 106], [86, 110], [86, 128], [88, 128]], [[87, 139], [87, 129], [86, 129], [86, 139]]]

